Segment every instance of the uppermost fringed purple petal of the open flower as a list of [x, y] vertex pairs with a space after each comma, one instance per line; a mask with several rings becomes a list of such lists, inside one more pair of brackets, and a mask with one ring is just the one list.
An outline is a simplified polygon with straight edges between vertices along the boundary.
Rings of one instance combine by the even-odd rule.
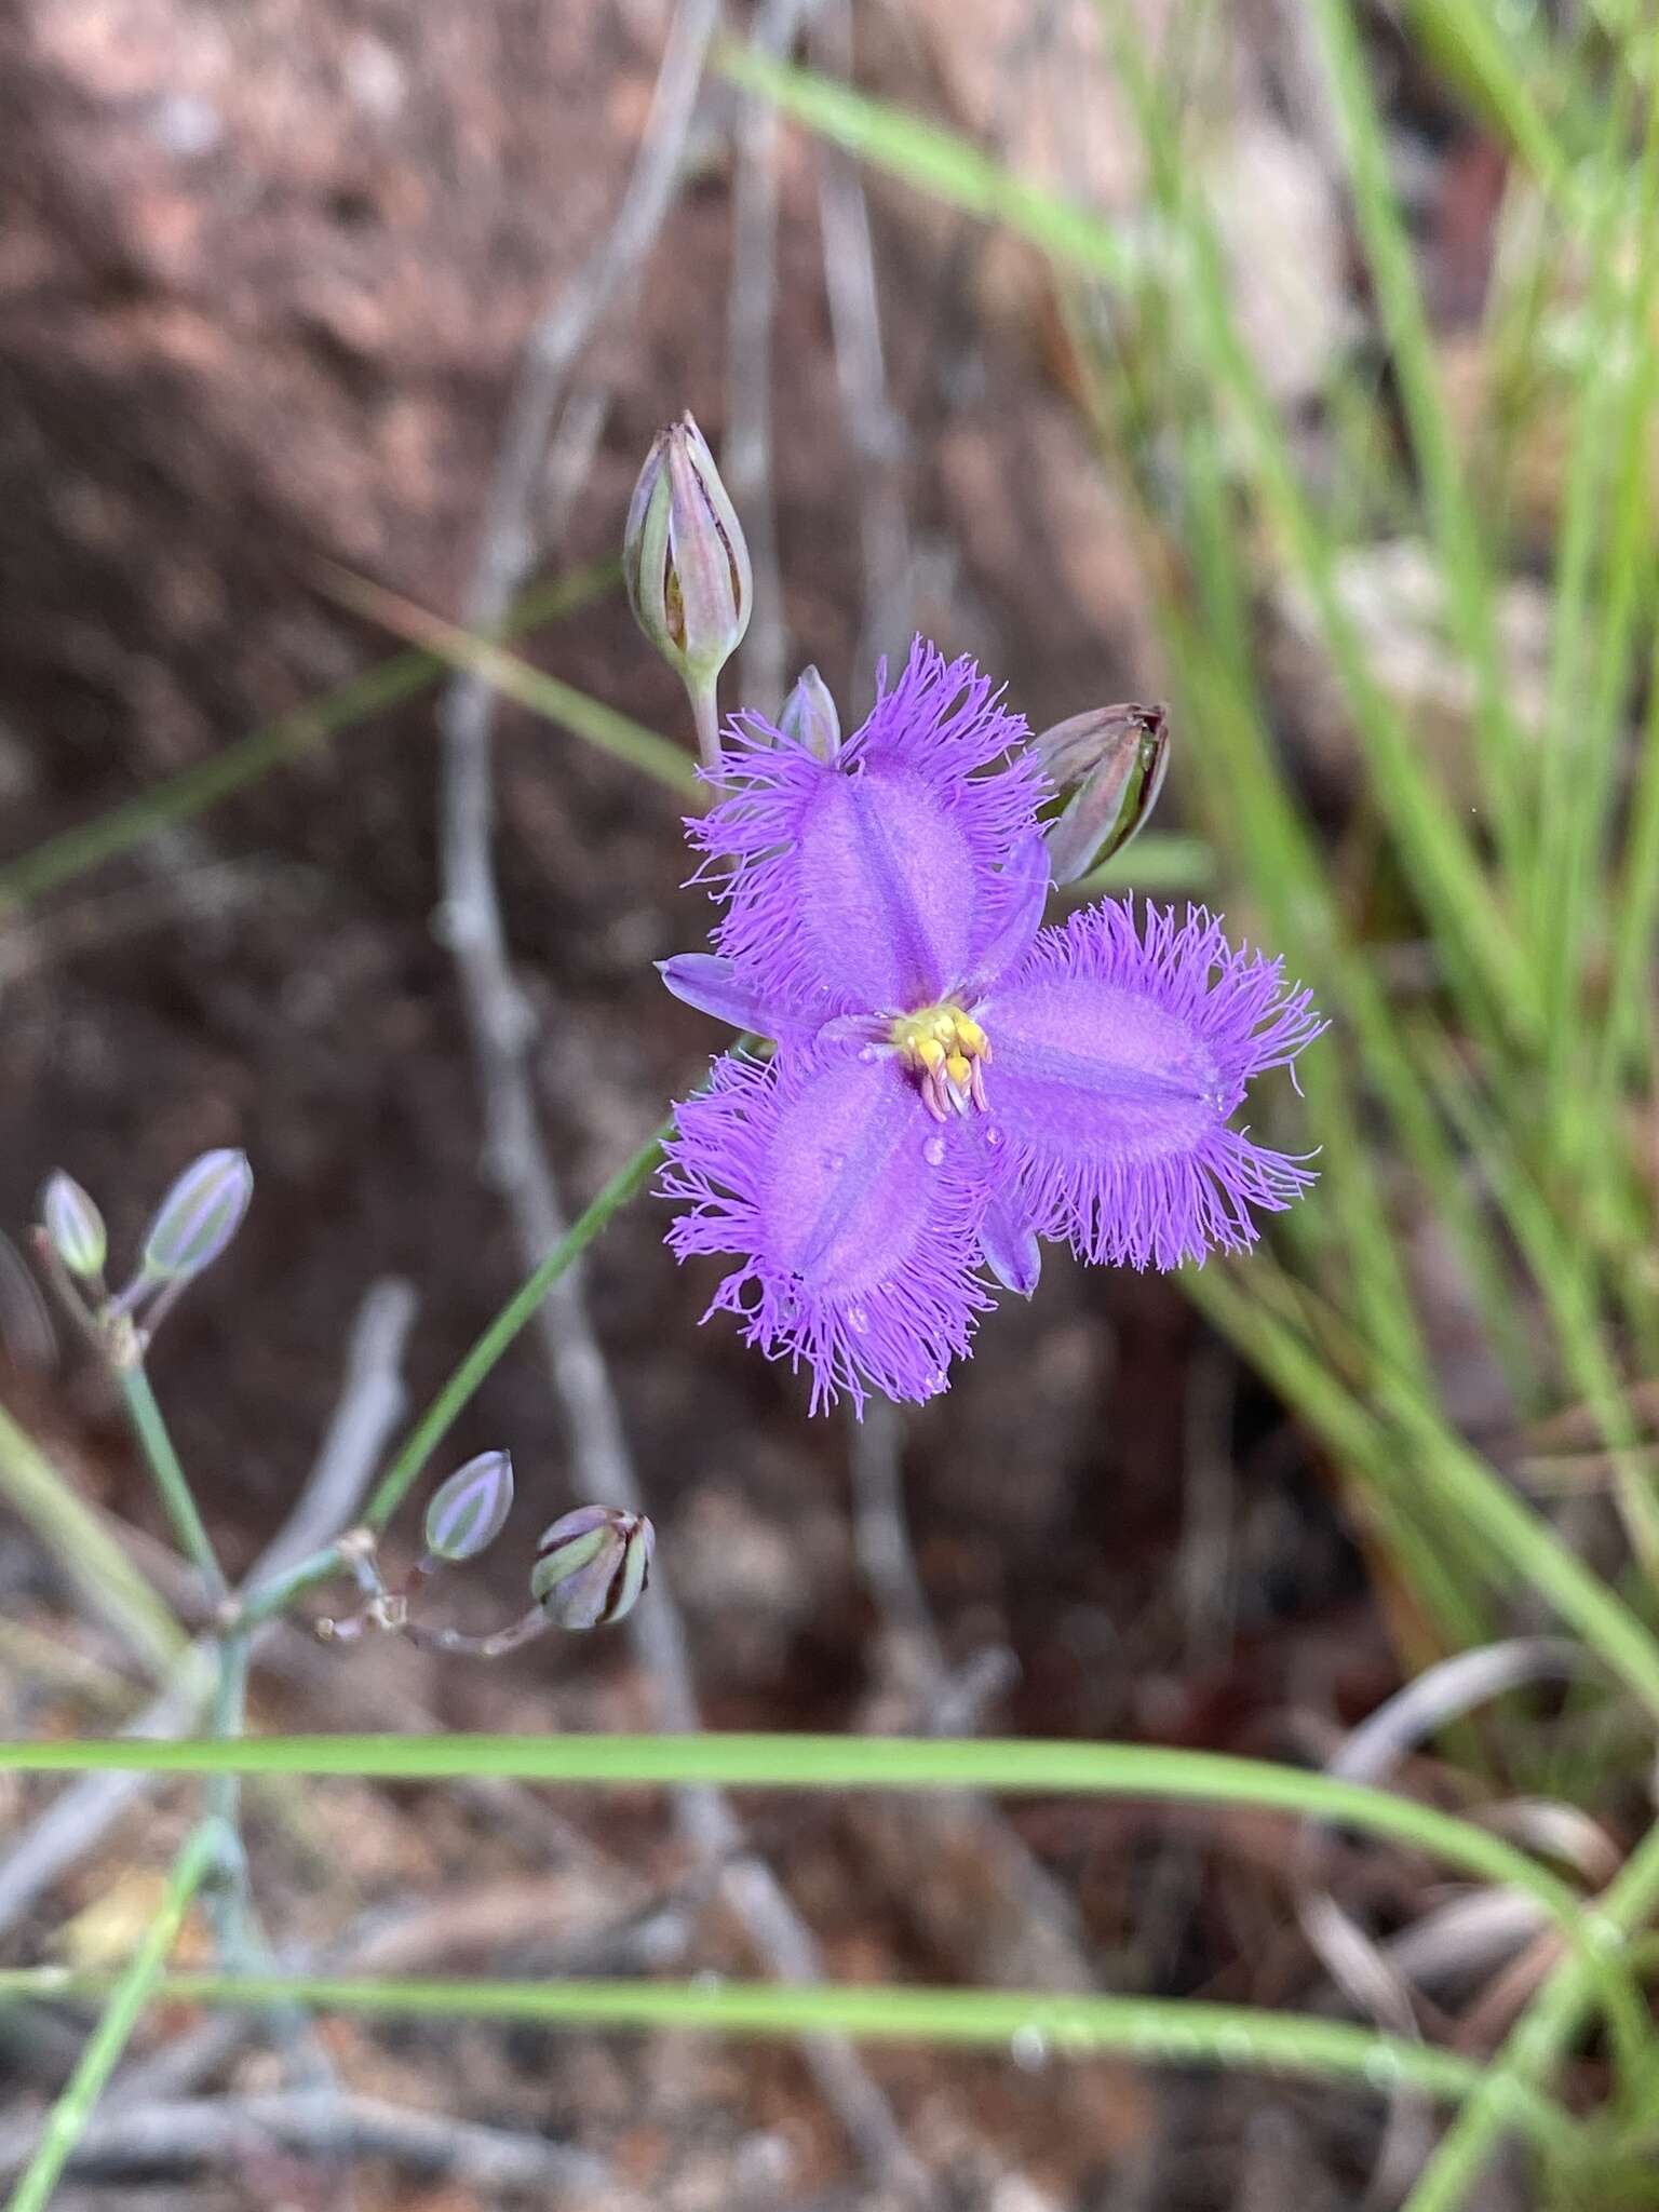
[[823, 1018], [940, 998], [1015, 896], [1044, 790], [1024, 737], [973, 661], [922, 639], [834, 761], [739, 717], [728, 796], [688, 825], [726, 900], [719, 951]]

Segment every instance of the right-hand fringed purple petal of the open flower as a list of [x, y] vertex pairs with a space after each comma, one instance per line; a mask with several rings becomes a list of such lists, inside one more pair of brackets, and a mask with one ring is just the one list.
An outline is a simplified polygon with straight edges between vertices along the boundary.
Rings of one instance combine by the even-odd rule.
[[1281, 964], [1190, 909], [1104, 900], [1044, 931], [993, 989], [991, 1119], [1044, 1237], [1088, 1261], [1177, 1267], [1241, 1250], [1314, 1177], [1228, 1126], [1248, 1082], [1323, 1022]]

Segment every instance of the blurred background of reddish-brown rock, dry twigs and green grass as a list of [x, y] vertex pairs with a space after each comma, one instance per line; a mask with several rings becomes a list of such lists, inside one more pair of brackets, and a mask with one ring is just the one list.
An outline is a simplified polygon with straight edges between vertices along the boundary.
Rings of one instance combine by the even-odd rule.
[[[816, 661], [852, 721], [916, 628], [1035, 728], [1170, 701], [1170, 792], [1115, 880], [1212, 902], [1316, 989], [1332, 1033], [1261, 1133], [1318, 1148], [1318, 1192], [1239, 1265], [1055, 1261], [949, 1398], [856, 1436], [697, 1334], [708, 1285], [635, 1203], [449, 1449], [518, 1462], [484, 1613], [542, 1522], [633, 1484], [657, 1644], [491, 1670], [283, 1630], [250, 1728], [701, 1717], [1336, 1765], [1613, 1885], [1621, 1986], [1586, 2026], [1535, 1896], [1248, 1801], [761, 1796], [739, 1836], [489, 1759], [418, 1794], [268, 1785], [254, 1893], [301, 1969], [1225, 2002], [1498, 2093], [1394, 2046], [1340, 2093], [1312, 2059], [1263, 2077], [1254, 2031], [1225, 2048], [1197, 2013], [1188, 2046], [1135, 2015], [1135, 2064], [1128, 2028], [1110, 2057], [998, 2028], [803, 2062], [442, 2004], [310, 2039], [173, 2008], [55, 2201], [1659, 2203], [1652, 13], [717, 18], [0, 22], [0, 1223], [22, 1245], [62, 1166], [131, 1241], [190, 1155], [250, 1152], [248, 1225], [153, 1360], [232, 1579], [343, 1345], [431, 1396], [710, 1048], [650, 969], [703, 931], [686, 708], [613, 568], [650, 436], [692, 407], [757, 562], [728, 706]], [[480, 894], [456, 825], [491, 776]], [[192, 1588], [22, 1263], [0, 1323], [0, 1719], [108, 1734], [177, 1692]], [[111, 1969], [192, 1798], [62, 1834], [62, 1787], [0, 1774], [7, 1958]], [[11, 2168], [86, 2017], [0, 2011]], [[1571, 2137], [1506, 2132], [1526, 2084]], [[1449, 2132], [1427, 2088], [1464, 2097]]]

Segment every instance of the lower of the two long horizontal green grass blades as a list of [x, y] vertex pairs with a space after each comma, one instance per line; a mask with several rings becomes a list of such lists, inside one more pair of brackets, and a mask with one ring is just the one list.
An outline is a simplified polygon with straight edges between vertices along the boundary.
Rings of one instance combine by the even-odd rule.
[[[0, 1973], [0, 2002], [71, 1995], [88, 1975]], [[1033, 2057], [1088, 2059], [1124, 2053], [1146, 2064], [1225, 2066], [1356, 2081], [1407, 2084], [1429, 2097], [1471, 2099], [1478, 2062], [1340, 2020], [1263, 2013], [1186, 1997], [1053, 1997], [991, 1989], [779, 1986], [774, 1982], [482, 1982], [170, 1975], [166, 1997], [186, 2004], [272, 2004], [436, 2020], [515, 2020], [542, 2026], [699, 2028], [717, 2035], [849, 2035], [863, 2042], [1026, 2048]], [[1548, 2143], [1571, 2148], [1577, 2128], [1546, 2097], [1526, 2095], [1517, 2117]]]

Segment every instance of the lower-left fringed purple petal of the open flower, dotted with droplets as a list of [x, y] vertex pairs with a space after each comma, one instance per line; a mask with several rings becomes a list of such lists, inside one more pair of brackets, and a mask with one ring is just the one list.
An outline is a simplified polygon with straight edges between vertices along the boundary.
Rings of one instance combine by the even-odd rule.
[[741, 1261], [708, 1312], [805, 1365], [814, 1411], [841, 1391], [858, 1411], [869, 1389], [936, 1396], [991, 1305], [973, 1274], [984, 1190], [889, 1057], [728, 1055], [679, 1106], [661, 1190], [688, 1201], [668, 1232], [679, 1259]]

